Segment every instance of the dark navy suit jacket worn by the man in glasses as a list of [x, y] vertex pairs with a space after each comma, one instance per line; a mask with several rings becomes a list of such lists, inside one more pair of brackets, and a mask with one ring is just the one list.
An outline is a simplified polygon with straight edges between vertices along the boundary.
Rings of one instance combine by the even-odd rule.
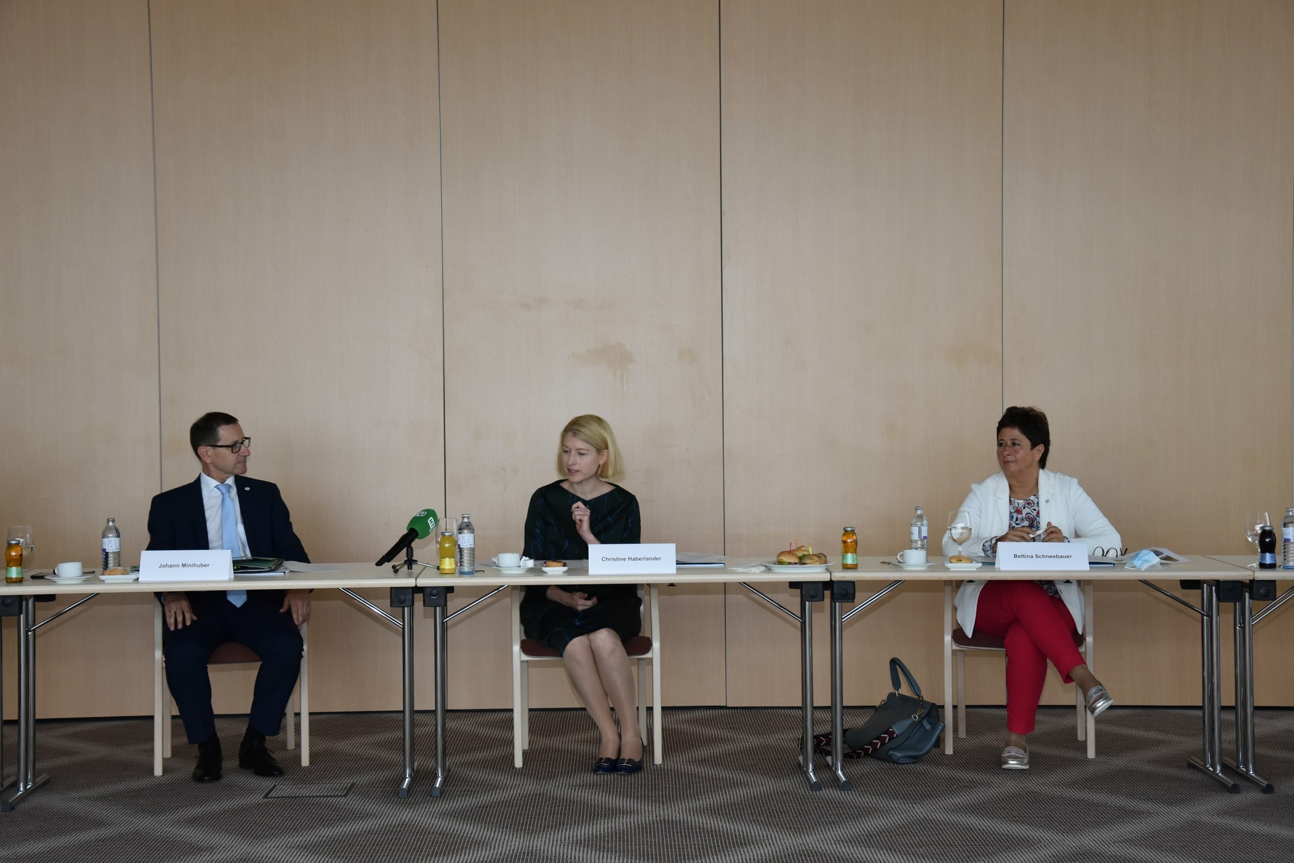
[[[305, 547], [292, 530], [292, 519], [278, 486], [264, 480], [234, 476], [247, 549], [254, 558], [282, 558], [309, 563]], [[149, 551], [207, 549], [207, 511], [202, 506], [202, 477], [162, 492], [149, 507]], [[195, 591], [211, 593], [211, 591]], [[283, 604], [282, 590], [248, 590], [247, 596]]]

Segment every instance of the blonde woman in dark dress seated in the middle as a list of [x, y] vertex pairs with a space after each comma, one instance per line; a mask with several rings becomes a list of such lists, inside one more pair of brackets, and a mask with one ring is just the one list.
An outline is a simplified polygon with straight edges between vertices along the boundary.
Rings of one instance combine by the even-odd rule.
[[[581, 560], [590, 545], [641, 542], [638, 499], [607, 480], [622, 472], [620, 448], [602, 417], [565, 424], [556, 467], [563, 477], [536, 489], [525, 515], [525, 555]], [[525, 637], [562, 651], [571, 683], [602, 736], [594, 772], [642, 770], [643, 734], [624, 643], [642, 626], [634, 585], [532, 585], [521, 600]], [[611, 713], [615, 708], [615, 717]], [[616, 718], [620, 727], [616, 727]]]

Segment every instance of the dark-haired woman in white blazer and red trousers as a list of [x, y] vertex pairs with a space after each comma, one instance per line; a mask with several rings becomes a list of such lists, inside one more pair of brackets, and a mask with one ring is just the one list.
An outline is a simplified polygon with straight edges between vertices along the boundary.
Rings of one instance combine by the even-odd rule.
[[[1047, 415], [1036, 408], [1008, 408], [998, 421], [1002, 472], [972, 485], [961, 503], [972, 525], [964, 547], [995, 555], [998, 542], [1080, 542], [1088, 552], [1119, 546], [1118, 530], [1078, 481], [1044, 470], [1049, 450]], [[943, 552], [956, 549], [945, 536]], [[980, 629], [1000, 635], [1007, 646], [1004, 769], [1029, 769], [1025, 735], [1034, 730], [1047, 660], [1066, 683], [1083, 690], [1093, 717], [1114, 704], [1074, 646], [1075, 633], [1083, 631], [1083, 595], [1074, 581], [968, 581], [956, 607], [967, 635]]]

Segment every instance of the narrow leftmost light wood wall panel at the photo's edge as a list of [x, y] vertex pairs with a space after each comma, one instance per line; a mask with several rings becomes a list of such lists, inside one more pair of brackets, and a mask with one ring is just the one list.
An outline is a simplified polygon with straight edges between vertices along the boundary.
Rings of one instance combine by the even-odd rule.
[[[137, 555], [158, 490], [148, 23], [142, 0], [0, 4], [0, 530], [32, 525], [35, 567], [98, 565], [107, 516]], [[149, 657], [123, 648], [144, 617], [74, 615], [41, 630], [39, 714], [136, 712]], [[8, 716], [13, 633], [6, 618]]]

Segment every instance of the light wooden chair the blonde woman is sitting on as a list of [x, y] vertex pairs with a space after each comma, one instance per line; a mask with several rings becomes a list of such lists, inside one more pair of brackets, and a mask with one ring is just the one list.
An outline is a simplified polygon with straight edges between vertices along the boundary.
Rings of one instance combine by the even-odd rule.
[[[642, 596], [642, 587], [638, 589]], [[531, 748], [529, 664], [562, 660], [560, 651], [545, 647], [521, 634], [521, 596], [524, 587], [514, 586], [512, 595], [512, 763], [521, 766], [523, 753]], [[656, 585], [647, 585], [651, 606], [651, 637], [635, 635], [625, 643], [630, 660], [638, 660], [638, 727], [647, 728], [647, 661], [651, 661], [652, 691], [652, 762], [661, 762], [660, 727], [660, 603]]]

